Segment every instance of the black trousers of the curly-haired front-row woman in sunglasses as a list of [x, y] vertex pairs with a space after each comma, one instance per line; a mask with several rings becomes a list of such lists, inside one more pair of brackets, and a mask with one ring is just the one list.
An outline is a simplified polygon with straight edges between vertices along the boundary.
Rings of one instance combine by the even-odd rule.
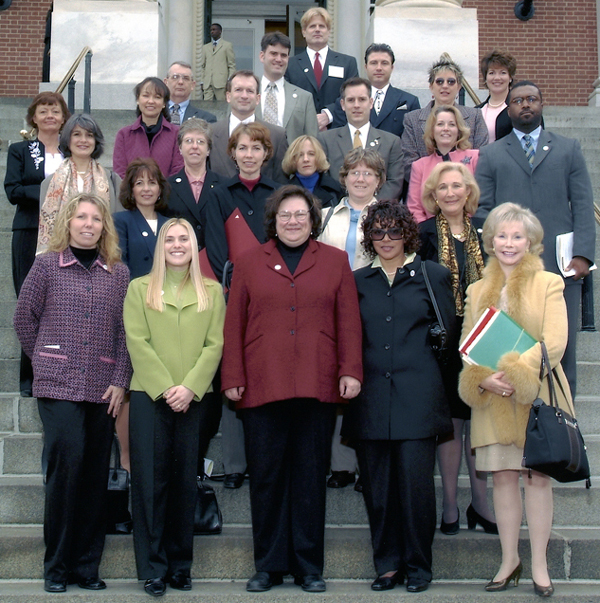
[[435, 438], [361, 440], [356, 454], [378, 576], [430, 581], [435, 534]]

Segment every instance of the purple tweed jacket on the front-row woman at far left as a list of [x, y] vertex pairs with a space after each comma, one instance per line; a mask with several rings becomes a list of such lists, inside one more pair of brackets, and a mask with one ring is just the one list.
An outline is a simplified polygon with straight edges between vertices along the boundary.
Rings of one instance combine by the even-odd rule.
[[98, 258], [87, 270], [70, 249], [35, 259], [14, 316], [33, 364], [33, 395], [104, 402], [109, 385], [129, 387], [123, 301], [129, 270]]

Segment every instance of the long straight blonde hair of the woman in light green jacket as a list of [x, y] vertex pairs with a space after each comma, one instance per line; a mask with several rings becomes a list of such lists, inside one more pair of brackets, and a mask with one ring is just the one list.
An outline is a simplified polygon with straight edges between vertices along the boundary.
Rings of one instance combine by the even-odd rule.
[[198, 249], [196, 234], [194, 233], [192, 225], [184, 218], [171, 218], [163, 224], [163, 227], [158, 233], [158, 237], [156, 238], [156, 249], [154, 250], [154, 261], [149, 275], [150, 282], [148, 283], [148, 291], [146, 293], [146, 305], [157, 312], [162, 312], [164, 309], [163, 289], [167, 275], [165, 241], [170, 228], [177, 225], [183, 226], [187, 230], [192, 248], [192, 261], [190, 262], [185, 277], [179, 285], [177, 295], [179, 296], [181, 294], [185, 284], [190, 280], [196, 291], [196, 297], [198, 298], [198, 312], [202, 312], [203, 310], [208, 310], [208, 308], [210, 308], [211, 299], [206, 291], [204, 279], [200, 272], [200, 262], [196, 251]]

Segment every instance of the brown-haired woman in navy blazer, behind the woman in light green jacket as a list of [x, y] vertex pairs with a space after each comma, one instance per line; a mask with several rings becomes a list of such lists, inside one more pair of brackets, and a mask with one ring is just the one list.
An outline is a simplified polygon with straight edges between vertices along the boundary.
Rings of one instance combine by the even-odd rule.
[[127, 211], [113, 217], [119, 234], [121, 257], [131, 278], [148, 274], [152, 269], [156, 236], [168, 218], [169, 183], [154, 159], [134, 159], [121, 183], [119, 201]]

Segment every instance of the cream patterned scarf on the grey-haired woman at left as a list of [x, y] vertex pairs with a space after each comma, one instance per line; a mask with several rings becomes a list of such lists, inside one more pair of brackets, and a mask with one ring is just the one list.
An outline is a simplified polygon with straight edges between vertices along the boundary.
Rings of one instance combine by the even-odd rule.
[[[110, 194], [108, 186], [108, 176], [104, 168], [92, 159], [90, 170], [83, 177], [83, 192], [97, 195], [110, 208]], [[48, 250], [48, 244], [54, 231], [54, 222], [61, 207], [79, 194], [77, 188], [77, 168], [75, 163], [69, 157], [59, 166], [50, 185], [46, 198], [40, 209], [40, 227], [38, 232], [38, 244], [36, 255]]]

